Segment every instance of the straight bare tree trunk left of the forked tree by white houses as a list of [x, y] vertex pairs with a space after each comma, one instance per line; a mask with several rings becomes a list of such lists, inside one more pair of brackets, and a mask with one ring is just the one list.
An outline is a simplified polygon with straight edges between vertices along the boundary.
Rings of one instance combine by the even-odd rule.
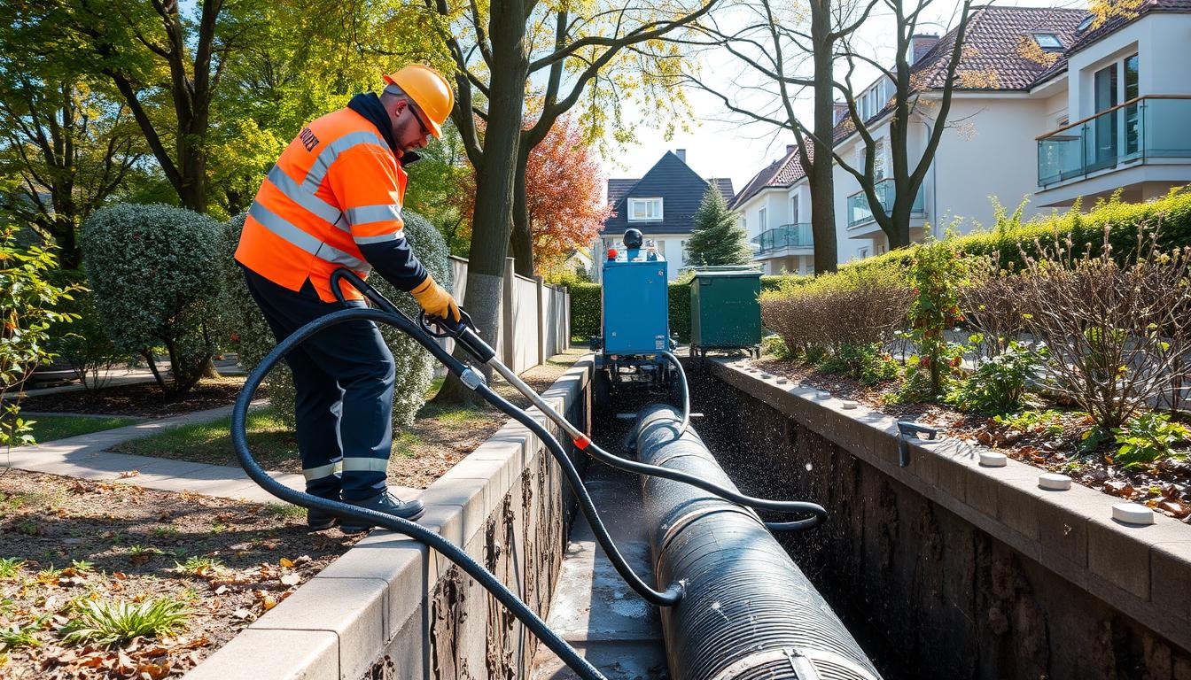
[[835, 272], [840, 256], [835, 235], [835, 179], [831, 166], [835, 131], [835, 89], [831, 12], [827, 0], [811, 4], [811, 37], [815, 49], [815, 139], [807, 169], [811, 188], [811, 236], [815, 239], [815, 274]]

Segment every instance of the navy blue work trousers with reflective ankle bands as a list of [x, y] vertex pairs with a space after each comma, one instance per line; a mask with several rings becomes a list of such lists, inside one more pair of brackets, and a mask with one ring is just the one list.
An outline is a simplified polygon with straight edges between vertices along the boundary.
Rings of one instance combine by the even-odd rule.
[[[364, 306], [324, 302], [310, 280], [294, 292], [242, 268], [279, 343], [319, 317]], [[286, 363], [297, 391], [306, 492], [347, 501], [382, 493], [393, 442], [394, 367], [376, 324], [356, 319], [326, 327], [286, 355]]]

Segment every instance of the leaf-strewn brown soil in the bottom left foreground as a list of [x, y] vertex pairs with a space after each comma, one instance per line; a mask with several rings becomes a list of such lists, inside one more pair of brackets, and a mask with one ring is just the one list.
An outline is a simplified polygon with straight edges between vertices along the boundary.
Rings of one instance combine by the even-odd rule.
[[[305, 512], [288, 506], [8, 469], [0, 473], [0, 557], [25, 562], [0, 576], [0, 631], [30, 626], [37, 644], [0, 651], [0, 675], [181, 675], [357, 538], [308, 534]], [[185, 573], [176, 562], [189, 557], [219, 564]], [[183, 629], [118, 647], [68, 643], [60, 632], [86, 600], [156, 598], [186, 604]]]

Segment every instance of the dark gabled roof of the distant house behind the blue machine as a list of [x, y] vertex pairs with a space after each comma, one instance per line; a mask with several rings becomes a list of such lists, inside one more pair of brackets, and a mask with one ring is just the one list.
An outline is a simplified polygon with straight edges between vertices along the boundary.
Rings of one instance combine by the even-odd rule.
[[[611, 183], [612, 180], [610, 180]], [[690, 233], [694, 211], [707, 191], [709, 182], [684, 163], [673, 151], [667, 151], [653, 168], [612, 204], [613, 216], [604, 220], [603, 233], [619, 236], [634, 226], [644, 235]], [[716, 180], [723, 193], [731, 191], [731, 182]], [[630, 198], [662, 198], [662, 219], [629, 223]]]

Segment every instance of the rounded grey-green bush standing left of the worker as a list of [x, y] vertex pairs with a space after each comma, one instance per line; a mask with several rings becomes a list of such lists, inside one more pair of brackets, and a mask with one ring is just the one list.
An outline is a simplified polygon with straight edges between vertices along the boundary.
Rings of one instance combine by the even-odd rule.
[[[166, 205], [116, 205], [83, 224], [95, 310], [116, 348], [144, 356], [167, 392], [189, 391], [218, 348], [223, 236], [214, 219]], [[169, 355], [170, 383], [155, 347]]]

